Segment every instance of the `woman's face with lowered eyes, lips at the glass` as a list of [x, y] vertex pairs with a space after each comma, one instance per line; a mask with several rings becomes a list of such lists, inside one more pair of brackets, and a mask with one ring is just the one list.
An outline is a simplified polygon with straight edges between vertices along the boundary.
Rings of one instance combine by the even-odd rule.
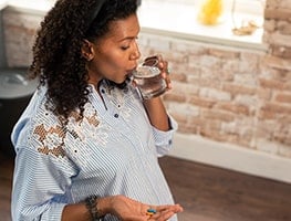
[[110, 24], [110, 32], [92, 44], [93, 59], [89, 62], [90, 83], [102, 78], [117, 84], [136, 69], [141, 53], [137, 45], [139, 24], [136, 14]]

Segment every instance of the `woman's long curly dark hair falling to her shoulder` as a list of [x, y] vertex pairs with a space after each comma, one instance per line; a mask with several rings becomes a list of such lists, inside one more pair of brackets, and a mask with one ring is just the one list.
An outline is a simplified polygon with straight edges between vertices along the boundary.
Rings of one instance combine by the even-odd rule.
[[104, 36], [114, 20], [136, 13], [136, 0], [58, 0], [41, 22], [33, 45], [30, 77], [48, 87], [48, 107], [64, 117], [80, 109], [83, 115], [90, 88], [84, 39]]

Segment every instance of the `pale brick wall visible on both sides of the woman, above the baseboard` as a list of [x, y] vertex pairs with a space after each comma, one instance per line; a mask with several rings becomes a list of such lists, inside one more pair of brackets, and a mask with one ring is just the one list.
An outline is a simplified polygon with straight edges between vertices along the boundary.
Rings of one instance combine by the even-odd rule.
[[[291, 0], [267, 0], [267, 53], [142, 32], [143, 54], [169, 61], [164, 99], [179, 133], [291, 158]], [[28, 65], [40, 17], [3, 13], [10, 66]]]

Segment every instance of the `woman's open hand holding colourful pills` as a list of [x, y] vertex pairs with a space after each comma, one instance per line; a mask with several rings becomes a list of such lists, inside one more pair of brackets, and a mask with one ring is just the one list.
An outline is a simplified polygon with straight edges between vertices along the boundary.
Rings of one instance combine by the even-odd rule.
[[[98, 209], [101, 213], [111, 213], [122, 221], [166, 221], [183, 211], [179, 204], [148, 206], [121, 194], [100, 199]], [[148, 214], [148, 209], [156, 210], [156, 213]]]

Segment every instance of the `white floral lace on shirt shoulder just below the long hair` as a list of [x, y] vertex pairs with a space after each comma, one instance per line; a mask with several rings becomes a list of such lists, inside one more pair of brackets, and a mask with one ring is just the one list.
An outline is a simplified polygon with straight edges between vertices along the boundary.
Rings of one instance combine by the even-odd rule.
[[105, 147], [111, 127], [101, 123], [92, 104], [87, 103], [84, 108], [82, 119], [77, 112], [73, 112], [67, 125], [62, 127], [58, 117], [45, 110], [43, 105], [34, 119], [33, 136], [35, 138], [31, 139], [38, 150], [55, 157], [64, 157], [67, 151], [77, 160], [80, 156], [86, 158], [91, 154], [86, 145], [89, 139]]

